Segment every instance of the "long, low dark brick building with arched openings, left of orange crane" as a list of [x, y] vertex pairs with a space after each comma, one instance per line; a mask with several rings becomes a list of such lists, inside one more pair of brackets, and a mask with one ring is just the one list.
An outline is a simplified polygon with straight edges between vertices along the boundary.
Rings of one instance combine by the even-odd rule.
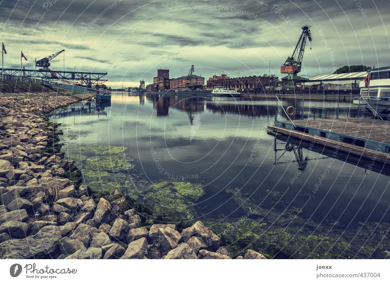
[[207, 88], [214, 89], [217, 87], [240, 89], [264, 89], [266, 87], [273, 88], [277, 82], [278, 77], [275, 76], [249, 76], [230, 78], [226, 74], [214, 75], [207, 80]]

